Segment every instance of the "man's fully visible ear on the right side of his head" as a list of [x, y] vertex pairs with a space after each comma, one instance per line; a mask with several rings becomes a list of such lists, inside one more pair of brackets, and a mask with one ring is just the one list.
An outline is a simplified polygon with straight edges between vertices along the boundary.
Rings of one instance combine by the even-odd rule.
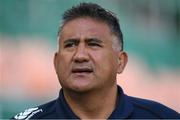
[[128, 62], [128, 55], [124, 51], [118, 53], [118, 70], [117, 73], [120, 74], [123, 72], [126, 64]]

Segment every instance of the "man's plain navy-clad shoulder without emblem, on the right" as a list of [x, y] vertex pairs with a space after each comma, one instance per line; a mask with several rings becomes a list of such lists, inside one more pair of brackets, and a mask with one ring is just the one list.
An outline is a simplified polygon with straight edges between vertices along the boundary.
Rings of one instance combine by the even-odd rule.
[[134, 114], [152, 115], [157, 118], [180, 118], [180, 114], [173, 109], [147, 99], [127, 96], [134, 107]]

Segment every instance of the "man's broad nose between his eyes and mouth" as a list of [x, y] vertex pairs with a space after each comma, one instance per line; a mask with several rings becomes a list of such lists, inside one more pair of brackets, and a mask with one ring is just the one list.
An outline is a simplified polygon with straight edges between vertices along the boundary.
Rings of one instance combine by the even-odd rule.
[[84, 43], [80, 43], [77, 46], [75, 55], [74, 55], [74, 62], [76, 63], [83, 63], [83, 62], [88, 62], [89, 61], [89, 55], [88, 51], [84, 45]]

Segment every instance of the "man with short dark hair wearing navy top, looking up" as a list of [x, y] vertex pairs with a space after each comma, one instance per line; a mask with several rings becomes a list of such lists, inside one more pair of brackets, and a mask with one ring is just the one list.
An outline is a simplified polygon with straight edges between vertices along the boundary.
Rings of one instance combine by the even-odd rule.
[[125, 95], [117, 85], [128, 57], [112, 12], [93, 3], [72, 7], [64, 13], [58, 41], [59, 97], [14, 119], [180, 118], [164, 105]]

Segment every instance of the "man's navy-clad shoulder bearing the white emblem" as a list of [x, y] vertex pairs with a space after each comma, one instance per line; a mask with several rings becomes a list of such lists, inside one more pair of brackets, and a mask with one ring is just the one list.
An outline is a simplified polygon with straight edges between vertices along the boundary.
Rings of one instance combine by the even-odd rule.
[[37, 119], [42, 117], [48, 117], [48, 115], [52, 115], [51, 113], [54, 112], [55, 104], [56, 104], [56, 100], [53, 100], [37, 107], [28, 108], [23, 112], [20, 112], [17, 115], [15, 115], [12, 119], [22, 120], [22, 119], [35, 119], [35, 118]]

